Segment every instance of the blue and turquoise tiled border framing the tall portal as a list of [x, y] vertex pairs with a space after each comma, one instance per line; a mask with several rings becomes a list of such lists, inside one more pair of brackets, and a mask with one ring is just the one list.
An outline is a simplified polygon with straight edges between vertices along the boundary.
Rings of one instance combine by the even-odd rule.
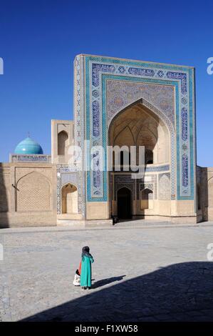
[[[171, 187], [172, 199], [194, 199], [194, 153], [195, 153], [195, 139], [194, 139], [194, 71], [187, 66], [173, 66], [169, 64], [155, 64], [143, 61], [130, 61], [122, 59], [108, 59], [102, 56], [85, 56], [85, 89], [86, 89], [86, 138], [93, 143], [103, 145], [107, 144], [107, 128], [105, 121], [108, 119], [107, 111], [104, 112], [105, 104], [107, 104], [107, 91], [103, 87], [103, 77], [108, 76], [108, 79], [114, 79], [113, 76], [118, 75], [123, 78], [119, 80], [126, 80], [125, 76], [128, 76], [128, 81], [134, 81], [134, 77], [137, 77], [138, 81], [142, 79], [147, 81], [147, 84], [164, 84], [174, 85], [175, 89], [175, 126], [177, 143], [174, 150], [176, 157], [172, 159], [171, 154]], [[110, 78], [111, 76], [111, 78]], [[136, 81], [136, 80], [135, 80]], [[160, 81], [162, 81], [160, 83]], [[169, 84], [169, 81], [171, 82]], [[179, 90], [180, 87], [180, 90]], [[123, 106], [123, 97], [114, 97], [116, 105]], [[96, 99], [99, 102], [100, 114], [100, 137], [96, 137], [93, 134], [93, 121], [91, 121], [93, 111], [93, 101]], [[150, 97], [152, 99], [152, 97]], [[147, 99], [150, 102], [150, 99]], [[154, 104], [153, 104], [154, 105]], [[182, 115], [183, 108], [187, 109], [187, 122], [185, 113]], [[157, 108], [159, 111], [167, 109], [167, 102], [162, 104], [162, 109]], [[175, 119], [176, 118], [176, 119]], [[167, 117], [168, 120], [171, 118]], [[174, 122], [172, 122], [174, 124]], [[186, 135], [183, 135], [182, 130], [186, 133], [187, 140], [184, 140]], [[174, 139], [175, 144], [175, 139]], [[187, 155], [187, 165], [183, 154]], [[174, 164], [176, 164], [175, 169]], [[183, 171], [182, 169], [185, 169]], [[187, 167], [187, 168], [186, 168]], [[188, 185], [185, 184], [185, 175], [188, 176]], [[87, 174], [87, 189], [88, 189], [88, 201], [106, 201], [108, 199], [108, 175], [106, 172], [101, 172], [100, 177], [100, 191], [103, 197], [94, 197], [93, 195], [93, 175]], [[175, 181], [177, 179], [177, 189], [174, 191]], [[175, 187], [176, 188], [176, 187]]]

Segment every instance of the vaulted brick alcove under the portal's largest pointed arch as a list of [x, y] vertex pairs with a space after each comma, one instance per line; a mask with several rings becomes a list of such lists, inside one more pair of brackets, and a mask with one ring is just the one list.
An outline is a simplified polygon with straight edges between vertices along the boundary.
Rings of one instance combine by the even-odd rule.
[[[170, 200], [170, 172], [165, 174], [164, 179], [159, 179], [160, 174], [157, 172], [162, 171], [162, 167], [169, 167], [170, 170], [170, 153], [173, 144], [171, 144], [172, 135], [171, 125], [167, 124], [162, 112], [153, 107], [151, 109], [150, 104], [142, 103], [142, 99], [135, 104], [131, 104], [129, 107], [125, 107], [122, 111], [118, 112], [110, 121], [108, 129], [108, 145], [111, 146], [110, 155], [117, 153], [120, 155], [120, 169], [116, 164], [113, 165], [113, 172], [110, 172], [110, 209], [112, 214], [116, 213], [116, 208], [119, 210], [120, 205], [118, 199], [113, 196], [115, 191], [119, 189], [120, 181], [122, 183], [128, 182], [131, 184], [131, 188], [134, 191], [134, 197], [131, 197], [131, 211], [133, 216], [140, 216], [142, 214], [157, 215], [161, 212], [161, 209], [168, 209], [170, 211], [170, 204], [163, 203], [162, 208], [155, 203], [158, 201], [158, 183], [163, 182], [166, 179], [166, 185], [160, 184], [160, 199]], [[173, 138], [172, 138], [173, 139]], [[113, 147], [113, 148], [112, 148]], [[143, 147], [143, 149], [141, 148]], [[120, 148], [120, 152], [118, 151]], [[113, 149], [113, 150], [112, 150]], [[123, 157], [125, 152], [130, 152], [130, 155], [126, 155], [126, 161], [133, 164], [132, 167], [127, 167], [127, 164], [123, 165]], [[143, 152], [144, 151], [144, 152]], [[134, 153], [136, 156], [136, 164], [143, 165], [145, 163], [145, 177], [148, 176], [148, 180], [155, 185], [155, 197], [153, 191], [145, 188], [140, 191], [140, 184], [133, 180], [131, 174], [135, 169], [135, 159], [133, 160]], [[140, 157], [141, 153], [144, 153], [145, 157]], [[125, 153], [126, 154], [126, 153]], [[108, 160], [111, 162], [112, 157]], [[144, 161], [143, 161], [144, 159]], [[113, 162], [116, 160], [113, 157]], [[168, 175], [168, 176], [167, 176]], [[143, 177], [140, 177], [142, 179]], [[142, 180], [141, 180], [142, 182]], [[141, 183], [140, 182], [140, 183]], [[144, 211], [152, 210], [152, 211]], [[119, 211], [118, 211], [119, 212]]]

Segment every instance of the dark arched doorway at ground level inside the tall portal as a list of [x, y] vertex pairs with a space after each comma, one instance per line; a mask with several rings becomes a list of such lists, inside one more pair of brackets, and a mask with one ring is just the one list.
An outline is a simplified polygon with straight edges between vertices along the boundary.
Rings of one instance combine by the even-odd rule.
[[131, 191], [128, 188], [121, 188], [118, 190], [118, 218], [130, 219], [132, 217], [131, 211]]

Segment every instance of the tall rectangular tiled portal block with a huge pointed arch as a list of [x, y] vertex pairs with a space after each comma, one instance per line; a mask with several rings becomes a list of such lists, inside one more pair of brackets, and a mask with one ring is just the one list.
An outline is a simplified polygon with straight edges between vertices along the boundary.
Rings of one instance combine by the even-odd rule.
[[[140, 112], [135, 112], [140, 109]], [[130, 112], [130, 110], [132, 112]], [[125, 130], [115, 120], [122, 115]], [[136, 117], [140, 114], [140, 118]], [[153, 209], [145, 216], [174, 222], [197, 221], [196, 143], [194, 127], [194, 68], [147, 61], [78, 55], [75, 59], [76, 144], [87, 154], [90, 167], [93, 147], [105, 151], [103, 170], [97, 159], [81, 176], [81, 209], [85, 219], [110, 219], [118, 209], [116, 185], [129, 187], [133, 194], [133, 216], [140, 216], [141, 192], [152, 190]], [[142, 130], [135, 134], [142, 119]], [[125, 119], [125, 118], [124, 118]], [[118, 119], [117, 119], [118, 121]], [[108, 172], [107, 146], [111, 128], [116, 128], [114, 142], [145, 143], [147, 166], [145, 179], [130, 183], [127, 176]], [[116, 124], [116, 125], [115, 125]], [[125, 134], [125, 136], [124, 136]], [[84, 140], [87, 140], [85, 147]], [[96, 152], [96, 157], [100, 153]], [[114, 174], [115, 175], [115, 174]], [[165, 184], [164, 181], [169, 181]]]

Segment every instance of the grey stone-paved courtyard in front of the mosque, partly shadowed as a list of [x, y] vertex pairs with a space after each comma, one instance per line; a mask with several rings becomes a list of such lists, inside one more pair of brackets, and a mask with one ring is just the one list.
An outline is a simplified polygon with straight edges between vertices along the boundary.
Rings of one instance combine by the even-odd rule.
[[[1, 321], [213, 321], [213, 223], [1, 229]], [[83, 245], [93, 288], [74, 287]]]

